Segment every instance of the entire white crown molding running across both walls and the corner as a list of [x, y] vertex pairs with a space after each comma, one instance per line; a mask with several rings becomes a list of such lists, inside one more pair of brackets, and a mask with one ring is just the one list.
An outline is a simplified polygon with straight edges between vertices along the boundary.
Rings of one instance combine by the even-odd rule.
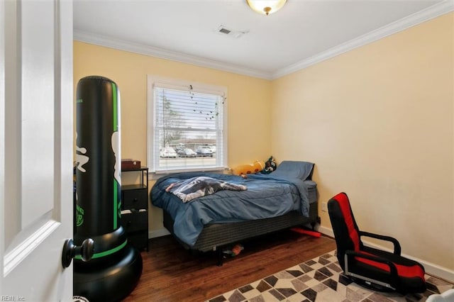
[[284, 67], [282, 69], [278, 69], [276, 72], [272, 72], [272, 73], [262, 72], [260, 70], [249, 69], [249, 68], [245, 68], [245, 67], [240, 67], [238, 65], [230, 65], [230, 64], [218, 62], [215, 60], [208, 60], [203, 57], [186, 55], [186, 54], [183, 54], [180, 52], [164, 50], [162, 48], [151, 47], [151, 46], [142, 45], [139, 43], [131, 43], [126, 40], [118, 40], [118, 39], [101, 36], [101, 35], [96, 35], [94, 33], [88, 33], [88, 32], [84, 32], [84, 31], [80, 31], [80, 30], [74, 30], [74, 40], [79, 40], [84, 43], [89, 43], [89, 44], [94, 44], [94, 45], [99, 45], [99, 46], [104, 46], [104, 47], [111, 47], [116, 50], [125, 50], [128, 52], [135, 52], [140, 55], [159, 57], [159, 58], [165, 59], [165, 60], [172, 60], [172, 61], [182, 62], [182, 63], [196, 65], [196, 66], [200, 66], [200, 67], [207, 67], [207, 68], [222, 70], [225, 72], [243, 74], [248, 77], [256, 77], [259, 79], [272, 80], [272, 79], [278, 79], [279, 77], [284, 77], [287, 74], [291, 74], [292, 72], [297, 72], [298, 70], [304, 69], [311, 65], [315, 65], [324, 60], [328, 60], [331, 57], [336, 57], [337, 55], [341, 55], [344, 52], [348, 52], [357, 47], [361, 47], [363, 45], [367, 45], [369, 43], [375, 42], [376, 40], [380, 40], [384, 37], [387, 37], [388, 35], [398, 33], [399, 31], [405, 30], [406, 28], [410, 28], [411, 26], [416, 26], [419, 23], [423, 23], [425, 21], [431, 20], [432, 18], [436, 18], [445, 13], [449, 13], [450, 11], [454, 11], [454, 0], [445, 0], [443, 2], [430, 6], [427, 9], [423, 9], [422, 11], [419, 11], [410, 16], [402, 18], [398, 21], [389, 23], [387, 26], [383, 26], [382, 28], [378, 28], [377, 30], [372, 30], [370, 33], [361, 35], [358, 38], [350, 40], [350, 41], [343, 43], [341, 45], [338, 45], [336, 47], [332, 47], [331, 49], [320, 52], [319, 54], [309, 57], [306, 60], [302, 60], [293, 65]]

